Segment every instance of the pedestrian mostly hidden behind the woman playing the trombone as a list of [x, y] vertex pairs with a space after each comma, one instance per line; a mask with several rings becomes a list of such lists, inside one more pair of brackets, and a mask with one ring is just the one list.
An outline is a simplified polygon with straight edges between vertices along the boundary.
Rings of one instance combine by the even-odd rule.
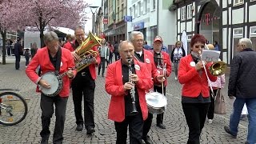
[[[207, 47], [209, 48], [209, 50], [214, 50], [214, 45], [212, 44], [208, 44]], [[212, 94], [212, 91], [210, 90], [210, 106], [209, 106], [209, 110], [207, 113], [207, 118], [208, 118], [208, 122], [211, 124], [213, 123], [214, 120], [214, 106], [215, 106], [215, 97], [217, 96], [219, 90], [222, 90], [225, 86], [225, 74], [222, 74], [220, 76], [217, 77], [217, 80], [215, 82], [211, 82], [210, 81], [210, 86], [213, 89], [214, 94]], [[212, 97], [212, 95], [214, 97]]]

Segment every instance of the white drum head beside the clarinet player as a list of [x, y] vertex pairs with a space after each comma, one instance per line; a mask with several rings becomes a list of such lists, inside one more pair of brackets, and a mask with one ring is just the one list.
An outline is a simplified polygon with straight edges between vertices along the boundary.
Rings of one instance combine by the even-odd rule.
[[164, 95], [158, 92], [152, 92], [146, 94], [146, 103], [150, 107], [159, 108], [167, 105], [167, 99]]

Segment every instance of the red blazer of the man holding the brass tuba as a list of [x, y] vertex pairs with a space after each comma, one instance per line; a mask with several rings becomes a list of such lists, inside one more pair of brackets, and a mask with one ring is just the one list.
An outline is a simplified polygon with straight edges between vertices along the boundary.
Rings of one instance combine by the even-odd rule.
[[[69, 43], [70, 43], [70, 42], [69, 42]], [[75, 43], [75, 41], [74, 41], [74, 43]], [[70, 44], [70, 45], [66, 45], [65, 48], [68, 49], [68, 50], [70, 50], [71, 52], [74, 51], [74, 48], [72, 47], [71, 44]], [[97, 51], [97, 52], [98, 52], [97, 46], [92, 47], [91, 50], [94, 50], [94, 51]], [[98, 66], [98, 65], [101, 63], [101, 58], [100, 58], [99, 54], [97, 55], [96, 59], [97, 59], [98, 64], [97, 64], [97, 65], [91, 64], [91, 65], [89, 66], [90, 75], [91, 75], [91, 77], [92, 77], [94, 80], [97, 78], [95, 66]]]

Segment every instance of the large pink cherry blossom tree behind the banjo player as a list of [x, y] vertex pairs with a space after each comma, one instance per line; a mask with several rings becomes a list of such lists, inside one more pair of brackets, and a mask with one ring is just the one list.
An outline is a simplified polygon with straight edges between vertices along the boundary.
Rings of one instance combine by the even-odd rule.
[[83, 11], [88, 7], [84, 0], [26, 0], [26, 14], [23, 14], [28, 26], [36, 26], [40, 31], [41, 46], [43, 31], [47, 26], [74, 28], [86, 18]]

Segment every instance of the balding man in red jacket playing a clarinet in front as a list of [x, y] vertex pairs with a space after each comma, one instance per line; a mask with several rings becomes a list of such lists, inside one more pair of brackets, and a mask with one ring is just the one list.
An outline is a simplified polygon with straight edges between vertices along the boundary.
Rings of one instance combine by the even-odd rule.
[[[148, 114], [145, 95], [146, 91], [153, 87], [153, 81], [146, 64], [133, 59], [129, 66], [127, 58], [133, 58], [134, 55], [134, 46], [131, 42], [121, 42], [118, 49], [121, 59], [110, 64], [106, 73], [105, 88], [111, 95], [108, 118], [114, 121], [116, 143], [126, 143], [127, 126], [130, 143], [142, 143], [143, 120]], [[129, 68], [133, 74], [129, 74]], [[131, 94], [130, 91], [133, 90], [135, 93]], [[135, 98], [134, 107], [131, 97]], [[137, 113], [132, 113], [134, 108]]]

